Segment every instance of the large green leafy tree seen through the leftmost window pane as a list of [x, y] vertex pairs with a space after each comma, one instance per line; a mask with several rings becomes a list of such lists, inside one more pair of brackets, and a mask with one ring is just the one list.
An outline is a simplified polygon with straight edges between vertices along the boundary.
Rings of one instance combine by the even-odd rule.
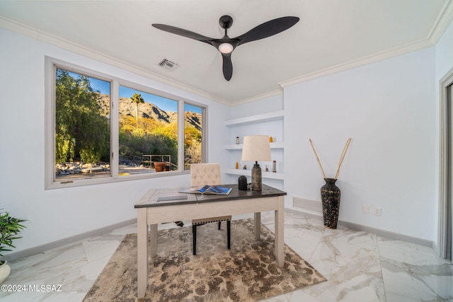
[[55, 161], [110, 161], [110, 124], [86, 76], [57, 69]]

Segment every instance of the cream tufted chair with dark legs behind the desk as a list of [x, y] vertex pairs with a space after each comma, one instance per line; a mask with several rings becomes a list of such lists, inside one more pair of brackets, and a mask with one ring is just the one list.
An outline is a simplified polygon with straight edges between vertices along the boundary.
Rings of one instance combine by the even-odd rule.
[[[220, 165], [218, 163], [193, 163], [190, 165], [190, 181], [191, 185], [222, 185], [220, 178]], [[205, 219], [193, 219], [192, 233], [193, 233], [193, 255], [197, 255], [197, 226], [210, 222], [226, 221], [226, 236], [228, 249], [230, 248], [230, 234], [231, 234], [231, 216], [210, 217]]]

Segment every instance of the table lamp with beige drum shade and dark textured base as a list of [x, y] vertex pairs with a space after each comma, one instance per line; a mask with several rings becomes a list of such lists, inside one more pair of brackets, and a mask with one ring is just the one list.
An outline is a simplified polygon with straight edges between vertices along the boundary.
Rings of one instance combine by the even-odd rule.
[[258, 161], [270, 161], [270, 143], [267, 135], [243, 137], [242, 161], [254, 161], [252, 168], [252, 190], [261, 190], [261, 168]]

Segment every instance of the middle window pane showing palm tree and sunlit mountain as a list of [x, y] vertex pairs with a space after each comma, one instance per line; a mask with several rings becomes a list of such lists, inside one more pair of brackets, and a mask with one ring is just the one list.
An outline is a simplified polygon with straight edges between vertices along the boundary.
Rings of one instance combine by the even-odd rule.
[[178, 170], [178, 101], [120, 86], [119, 175]]

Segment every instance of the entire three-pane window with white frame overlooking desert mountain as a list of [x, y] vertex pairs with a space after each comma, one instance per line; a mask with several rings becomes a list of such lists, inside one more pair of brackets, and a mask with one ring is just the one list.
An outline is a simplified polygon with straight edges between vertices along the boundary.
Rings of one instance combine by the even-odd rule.
[[46, 188], [182, 173], [205, 156], [206, 108], [46, 58]]

